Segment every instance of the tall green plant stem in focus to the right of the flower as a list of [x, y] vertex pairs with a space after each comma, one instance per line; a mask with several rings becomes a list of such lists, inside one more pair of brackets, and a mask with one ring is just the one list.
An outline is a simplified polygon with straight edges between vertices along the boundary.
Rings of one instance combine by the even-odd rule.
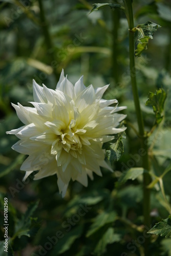
[[[147, 137], [144, 133], [144, 122], [142, 118], [142, 112], [140, 109], [139, 95], [137, 90], [137, 81], [136, 81], [136, 68], [135, 68], [135, 57], [134, 57], [134, 33], [132, 29], [134, 28], [134, 17], [133, 17], [133, 9], [132, 9], [132, 1], [125, 0], [125, 9], [126, 16], [129, 23], [129, 46], [130, 46], [130, 72], [131, 72], [131, 82], [132, 82], [132, 90], [134, 96], [134, 104], [136, 109], [139, 134], [141, 139], [141, 147], [144, 150], [144, 156], [142, 157], [142, 166], [149, 172], [149, 162], [148, 162], [148, 146], [147, 146]], [[150, 183], [151, 177], [148, 173], [144, 173], [143, 175], [143, 215], [144, 215], [144, 225], [148, 228], [150, 227], [151, 219], [150, 219], [150, 189], [147, 188], [147, 185]], [[148, 239], [145, 240], [145, 255], [147, 255], [147, 245]]]

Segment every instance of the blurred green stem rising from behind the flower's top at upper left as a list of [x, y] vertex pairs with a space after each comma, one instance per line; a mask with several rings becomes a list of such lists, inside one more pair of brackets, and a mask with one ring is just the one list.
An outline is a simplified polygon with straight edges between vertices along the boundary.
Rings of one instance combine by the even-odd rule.
[[[44, 33], [44, 37], [45, 37], [45, 43], [46, 46], [48, 48], [49, 55], [51, 57], [51, 63], [55, 62], [57, 65], [57, 56], [56, 56], [56, 52], [54, 51], [54, 46], [53, 46], [53, 42], [51, 39], [51, 35], [49, 32], [49, 24], [47, 22], [46, 16], [45, 16], [45, 10], [44, 10], [44, 6], [42, 4], [41, 0], [38, 0], [38, 4], [39, 4], [39, 9], [40, 9], [40, 20], [41, 20], [41, 26], [42, 26], [42, 31]], [[56, 69], [54, 68], [54, 66], [52, 66], [53, 68], [53, 73], [57, 79], [57, 81], [59, 80], [59, 74], [57, 73]]]

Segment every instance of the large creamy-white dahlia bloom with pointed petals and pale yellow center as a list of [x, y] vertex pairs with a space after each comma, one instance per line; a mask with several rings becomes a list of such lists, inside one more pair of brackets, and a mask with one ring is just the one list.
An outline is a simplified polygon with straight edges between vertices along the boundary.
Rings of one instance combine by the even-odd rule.
[[126, 129], [117, 128], [125, 115], [116, 113], [125, 107], [119, 108], [116, 99], [101, 99], [109, 85], [86, 88], [82, 80], [73, 86], [63, 70], [56, 90], [33, 80], [34, 107], [12, 104], [24, 126], [7, 132], [19, 138], [13, 150], [29, 155], [20, 167], [26, 171], [24, 180], [35, 170], [35, 180], [56, 174], [62, 197], [71, 179], [87, 186], [88, 176], [102, 176], [100, 166], [113, 171], [104, 161], [102, 144]]

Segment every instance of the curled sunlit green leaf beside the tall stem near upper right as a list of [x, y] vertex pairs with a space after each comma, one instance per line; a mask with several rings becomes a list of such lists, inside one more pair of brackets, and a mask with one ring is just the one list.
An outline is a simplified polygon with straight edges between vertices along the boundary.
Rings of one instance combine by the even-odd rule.
[[146, 22], [132, 29], [132, 32], [135, 32], [135, 56], [140, 57], [141, 53], [147, 49], [148, 40], [153, 39], [153, 33], [158, 28], [161, 26], [153, 22]]

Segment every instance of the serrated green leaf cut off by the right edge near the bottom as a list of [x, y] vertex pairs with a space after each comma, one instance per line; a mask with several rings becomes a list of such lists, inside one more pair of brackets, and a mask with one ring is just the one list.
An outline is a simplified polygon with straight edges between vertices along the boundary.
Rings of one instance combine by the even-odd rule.
[[170, 238], [171, 237], [171, 216], [169, 215], [167, 219], [157, 223], [147, 233], [157, 234], [161, 237]]

